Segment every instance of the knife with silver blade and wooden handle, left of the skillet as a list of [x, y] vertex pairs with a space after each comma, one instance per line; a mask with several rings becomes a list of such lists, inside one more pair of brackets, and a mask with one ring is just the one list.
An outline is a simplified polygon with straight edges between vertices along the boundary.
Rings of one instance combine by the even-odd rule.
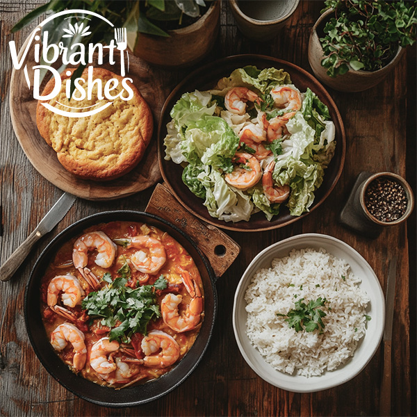
[[45, 234], [54, 229], [56, 224], [63, 219], [65, 214], [70, 210], [72, 204], [74, 204], [76, 197], [69, 193], [64, 193], [60, 199], [54, 204], [51, 210], [48, 211], [47, 215], [40, 221], [38, 227], [26, 238], [24, 243], [20, 245], [10, 258], [7, 259], [0, 267], [0, 280], [8, 281], [17, 268], [26, 259], [33, 245]]

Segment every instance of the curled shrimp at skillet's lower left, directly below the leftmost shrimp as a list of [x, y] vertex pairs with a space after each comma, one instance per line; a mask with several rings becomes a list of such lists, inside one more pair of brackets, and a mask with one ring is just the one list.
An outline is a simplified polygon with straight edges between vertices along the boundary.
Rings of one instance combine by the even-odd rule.
[[63, 323], [51, 333], [51, 345], [55, 350], [63, 350], [70, 342], [74, 347], [73, 366], [76, 370], [84, 368], [87, 357], [87, 348], [84, 343], [84, 334], [71, 323]]

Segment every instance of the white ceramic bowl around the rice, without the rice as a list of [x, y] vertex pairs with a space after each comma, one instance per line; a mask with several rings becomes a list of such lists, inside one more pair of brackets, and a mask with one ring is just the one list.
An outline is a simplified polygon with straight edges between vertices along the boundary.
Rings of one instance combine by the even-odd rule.
[[[367, 323], [365, 336], [358, 344], [354, 356], [347, 360], [336, 370], [325, 371], [320, 376], [303, 377], [300, 375], [288, 375], [275, 370], [263, 359], [258, 350], [250, 343], [246, 335], [245, 292], [254, 273], [261, 268], [270, 268], [272, 259], [288, 256], [293, 249], [323, 248], [329, 254], [349, 263], [354, 275], [361, 277], [360, 287], [368, 293], [367, 314], [371, 320]], [[248, 365], [266, 382], [287, 391], [296, 393], [311, 393], [322, 391], [334, 386], [341, 385], [358, 375], [375, 354], [384, 332], [385, 302], [384, 293], [379, 284], [375, 272], [368, 262], [352, 247], [346, 243], [322, 234], [301, 234], [281, 240], [267, 247], [259, 253], [245, 270], [240, 279], [234, 297], [233, 327], [240, 353]]]

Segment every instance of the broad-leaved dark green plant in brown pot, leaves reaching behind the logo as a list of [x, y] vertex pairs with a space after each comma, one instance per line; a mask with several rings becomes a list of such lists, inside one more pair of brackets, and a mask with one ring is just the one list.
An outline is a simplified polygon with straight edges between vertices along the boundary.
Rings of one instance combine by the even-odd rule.
[[[136, 56], [156, 65], [177, 67], [190, 65], [203, 58], [213, 47], [220, 22], [220, 0], [50, 0], [28, 13], [12, 32], [32, 22], [43, 13], [58, 13], [65, 9], [90, 10], [106, 17], [116, 27], [127, 31], [127, 44]], [[49, 33], [62, 33], [69, 23], [53, 19], [45, 26]], [[83, 23], [83, 17], [78, 24]], [[89, 34], [76, 42], [109, 42], [113, 33], [99, 19], [90, 26]], [[58, 30], [58, 26], [60, 27]], [[53, 41], [53, 40], [51, 40]], [[56, 42], [62, 41], [56, 39]], [[74, 40], [72, 40], [74, 42]], [[80, 68], [81, 72], [81, 68]]]

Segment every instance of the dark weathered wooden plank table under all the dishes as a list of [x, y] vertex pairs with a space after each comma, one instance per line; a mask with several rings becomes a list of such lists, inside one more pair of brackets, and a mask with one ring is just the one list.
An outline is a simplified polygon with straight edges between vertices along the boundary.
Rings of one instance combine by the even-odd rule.
[[[1, 1], [1, 261], [35, 228], [61, 195], [32, 167], [19, 147], [8, 105], [12, 63], [8, 42], [22, 44], [31, 28], [10, 35], [10, 28], [42, 1]], [[266, 43], [247, 40], [238, 31], [227, 1], [222, 5], [220, 35], [207, 63], [215, 58], [257, 53], [288, 60], [311, 72], [307, 44], [321, 1], [301, 1], [291, 22]], [[167, 72], [166, 94], [194, 68]], [[132, 409], [106, 409], [66, 391], [42, 367], [28, 341], [24, 325], [24, 288], [42, 249], [58, 232], [85, 215], [120, 208], [143, 210], [152, 189], [109, 202], [78, 200], [49, 236], [35, 245], [12, 281], [0, 284], [0, 414], [4, 416], [376, 416], [383, 349], [350, 382], [311, 394], [290, 393], [264, 382], [238, 351], [231, 325], [234, 291], [246, 266], [264, 247], [295, 234], [329, 234], [360, 252], [386, 288], [389, 260], [398, 256], [398, 284], [393, 326], [393, 416], [416, 415], [416, 218], [370, 240], [338, 224], [357, 175], [362, 171], [391, 171], [416, 177], [416, 48], [409, 48], [400, 65], [382, 83], [366, 92], [341, 93], [328, 89], [341, 111], [347, 134], [347, 157], [341, 179], [317, 211], [282, 229], [252, 234], [229, 233], [242, 247], [234, 265], [218, 280], [218, 320], [204, 359], [179, 388], [164, 398]], [[414, 211], [415, 212], [415, 211]], [[410, 254], [410, 256], [409, 256]], [[411, 277], [411, 279], [410, 279]], [[410, 304], [411, 303], [411, 304]], [[411, 310], [410, 310], [411, 305]], [[409, 329], [412, 329], [412, 332]], [[410, 352], [411, 355], [410, 355]]]

